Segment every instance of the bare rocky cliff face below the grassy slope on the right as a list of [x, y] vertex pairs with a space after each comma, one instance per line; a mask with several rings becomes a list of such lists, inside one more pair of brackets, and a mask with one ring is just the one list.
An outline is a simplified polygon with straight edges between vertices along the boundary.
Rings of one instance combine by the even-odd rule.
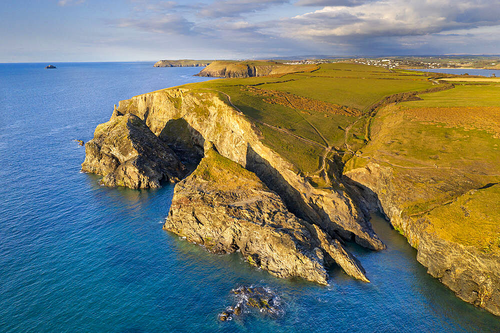
[[[414, 184], [390, 166], [368, 162], [345, 172], [356, 200], [365, 212], [381, 211], [392, 226], [417, 249], [416, 259], [462, 300], [500, 315], [500, 257], [486, 255], [429, 231], [425, 215], [405, 213], [401, 202]], [[495, 186], [498, 186], [495, 185]], [[480, 190], [480, 189], [479, 189]], [[472, 192], [475, 190], [472, 190]]]

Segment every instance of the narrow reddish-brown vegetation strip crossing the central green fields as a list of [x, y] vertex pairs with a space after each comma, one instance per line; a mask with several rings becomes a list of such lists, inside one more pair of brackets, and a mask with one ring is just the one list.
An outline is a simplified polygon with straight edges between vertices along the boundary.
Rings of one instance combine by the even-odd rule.
[[311, 114], [308, 111], [313, 111], [353, 116], [362, 115], [360, 110], [353, 107], [301, 97], [289, 92], [262, 89], [251, 85], [245, 85], [241, 89], [250, 92], [252, 95], [264, 96], [263, 101], [266, 103], [281, 104], [293, 109], [300, 109], [305, 114]]

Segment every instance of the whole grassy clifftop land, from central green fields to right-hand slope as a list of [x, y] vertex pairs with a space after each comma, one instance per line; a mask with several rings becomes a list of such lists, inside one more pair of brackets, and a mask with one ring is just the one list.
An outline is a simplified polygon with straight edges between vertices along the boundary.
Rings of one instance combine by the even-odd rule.
[[[325, 63], [312, 71], [181, 87], [232, 103], [255, 122], [262, 142], [311, 185], [342, 186], [331, 169], [324, 175], [323, 157], [334, 159], [344, 172], [374, 161], [391, 168], [394, 186], [401, 187], [397, 204], [404, 214], [424, 216], [429, 232], [443, 238], [496, 251], [500, 231], [482, 220], [485, 209], [500, 210], [498, 186], [473, 189], [500, 182], [500, 86], [463, 81], [413, 98], [420, 100], [383, 104], [368, 112], [396, 93], [449, 87], [435, 84], [434, 75]], [[454, 203], [443, 205], [449, 202]], [[460, 217], [462, 206], [471, 216], [466, 221]]]

